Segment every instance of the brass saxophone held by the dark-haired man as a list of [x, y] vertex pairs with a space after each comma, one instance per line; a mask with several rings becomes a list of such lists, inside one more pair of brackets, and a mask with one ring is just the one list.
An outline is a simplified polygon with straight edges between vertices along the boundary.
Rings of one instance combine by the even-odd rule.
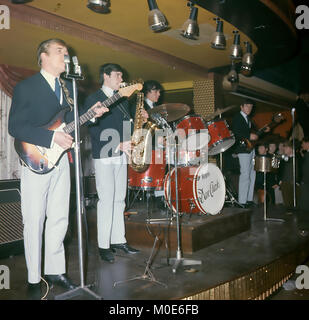
[[133, 145], [131, 151], [130, 167], [136, 172], [144, 172], [148, 169], [152, 157], [152, 137], [158, 128], [156, 124], [147, 121], [144, 124], [142, 110], [144, 108], [144, 94], [137, 93], [134, 129], [131, 137]]

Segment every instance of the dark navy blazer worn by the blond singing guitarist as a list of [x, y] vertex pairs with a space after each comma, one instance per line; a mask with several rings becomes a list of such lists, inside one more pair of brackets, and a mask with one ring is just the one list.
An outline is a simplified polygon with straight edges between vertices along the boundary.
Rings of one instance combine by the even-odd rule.
[[[72, 86], [66, 82], [72, 96]], [[63, 97], [63, 105], [51, 89], [48, 82], [36, 73], [30, 78], [19, 82], [15, 88], [9, 114], [9, 134], [18, 140], [31, 144], [50, 147], [53, 131], [42, 126], [48, 124], [61, 110], [68, 108]], [[72, 121], [73, 112], [65, 115], [66, 122]]]

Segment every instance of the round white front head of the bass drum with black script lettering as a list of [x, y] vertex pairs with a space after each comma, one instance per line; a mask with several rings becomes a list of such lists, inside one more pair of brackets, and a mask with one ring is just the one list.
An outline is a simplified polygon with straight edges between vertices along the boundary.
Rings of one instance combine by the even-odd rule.
[[212, 163], [199, 166], [194, 175], [193, 193], [201, 212], [219, 213], [225, 202], [225, 181], [221, 170]]

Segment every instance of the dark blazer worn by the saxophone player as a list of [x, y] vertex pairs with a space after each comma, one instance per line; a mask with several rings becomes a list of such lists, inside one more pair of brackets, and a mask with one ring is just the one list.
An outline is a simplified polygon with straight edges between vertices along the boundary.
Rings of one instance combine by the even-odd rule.
[[[88, 110], [97, 101], [103, 102], [106, 99], [108, 99], [108, 97], [99, 89], [87, 97], [84, 109]], [[126, 113], [120, 110], [120, 106]], [[133, 126], [130, 119], [132, 119], [132, 117], [128, 100], [121, 98], [109, 107], [109, 112], [97, 118], [95, 123], [87, 123], [89, 124], [88, 128], [91, 137], [93, 159], [116, 157], [122, 154], [121, 151], [115, 151], [120, 142], [131, 139]], [[124, 123], [126, 123], [125, 133]]]

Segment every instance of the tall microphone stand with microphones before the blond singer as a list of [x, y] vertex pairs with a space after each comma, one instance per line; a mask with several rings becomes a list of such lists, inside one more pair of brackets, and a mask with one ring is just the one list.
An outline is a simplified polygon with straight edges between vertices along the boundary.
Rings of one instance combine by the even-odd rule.
[[[75, 58], [75, 60], [74, 60]], [[81, 70], [77, 62], [77, 58], [73, 57], [75, 65], [75, 73], [70, 74], [69, 68], [66, 64], [66, 75], [65, 78], [72, 80], [73, 83], [73, 100], [74, 100], [74, 129], [75, 129], [75, 184], [76, 184], [76, 208], [77, 208], [77, 233], [78, 233], [78, 249], [79, 249], [79, 272], [80, 272], [80, 286], [67, 291], [63, 294], [55, 296], [55, 300], [66, 300], [79, 295], [88, 294], [95, 299], [102, 300], [103, 298], [98, 296], [95, 292], [91, 291], [85, 286], [84, 280], [84, 260], [83, 260], [83, 237], [82, 237], [82, 214], [85, 214], [85, 204], [84, 204], [84, 192], [82, 181], [82, 166], [80, 157], [80, 125], [79, 125], [79, 114], [77, 105], [77, 86], [76, 80], [83, 80], [84, 77], [81, 75]]]

